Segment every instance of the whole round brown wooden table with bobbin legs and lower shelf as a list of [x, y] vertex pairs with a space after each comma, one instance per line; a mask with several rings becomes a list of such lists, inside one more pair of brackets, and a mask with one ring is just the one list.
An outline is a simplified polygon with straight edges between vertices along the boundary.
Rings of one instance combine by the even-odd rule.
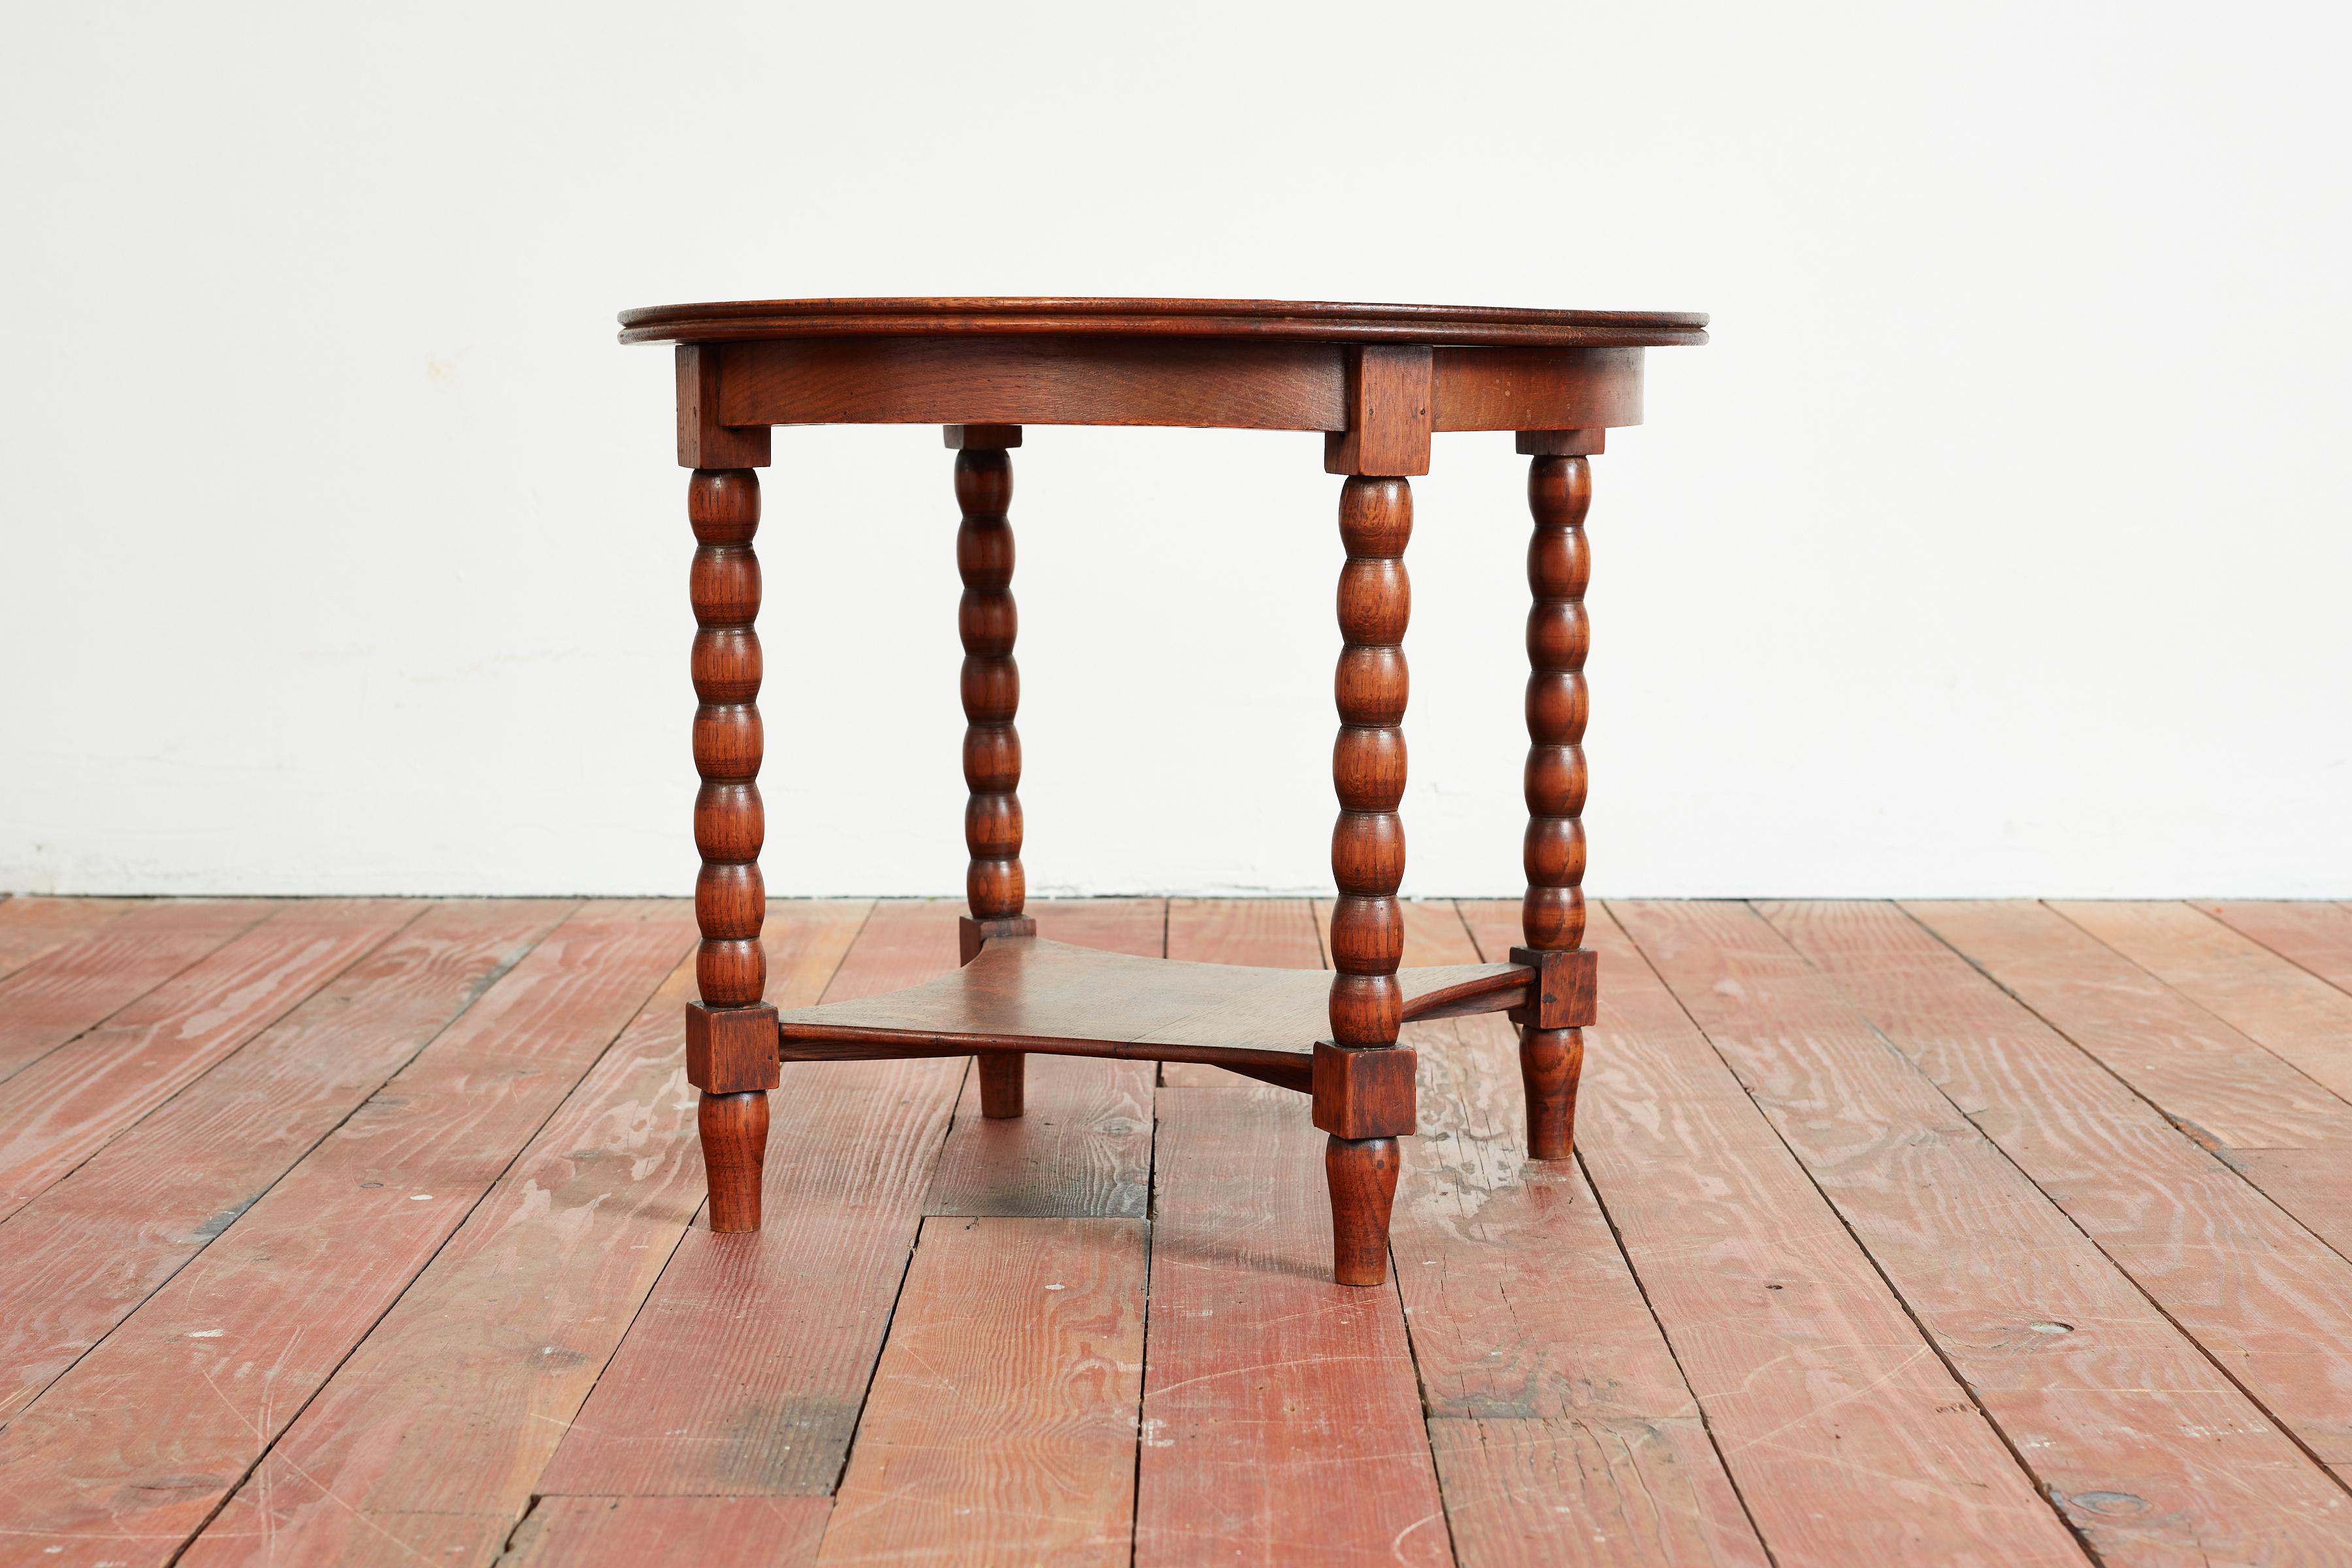
[[[760, 1227], [767, 1091], [786, 1060], [976, 1056], [988, 1117], [1021, 1114], [1023, 1053], [1214, 1063], [1312, 1098], [1331, 1138], [1334, 1272], [1388, 1276], [1397, 1138], [1414, 1131], [1414, 1018], [1510, 1011], [1526, 1145], [1566, 1159], [1592, 954], [1583, 950], [1588, 458], [1642, 421], [1642, 350], [1705, 343], [1708, 317], [1232, 299], [783, 299], [621, 315], [623, 343], [677, 346], [677, 461], [694, 470], [694, 884], [701, 924], [687, 1077], [701, 1091], [710, 1227]], [[760, 527], [771, 425], [936, 423], [955, 449], [964, 576], [964, 964], [863, 1001], [762, 1001]], [[1021, 425], [1322, 430], [1345, 475], [1331, 969], [1138, 959], [1037, 940], [1023, 914], [1014, 710]], [[1510, 964], [1402, 969], [1404, 543], [1430, 435], [1515, 430], [1526, 550], [1526, 903]]]

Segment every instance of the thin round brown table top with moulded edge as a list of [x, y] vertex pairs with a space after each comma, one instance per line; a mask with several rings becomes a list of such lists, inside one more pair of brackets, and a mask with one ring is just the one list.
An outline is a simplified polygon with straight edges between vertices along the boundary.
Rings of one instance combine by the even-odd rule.
[[1343, 306], [1289, 299], [743, 299], [621, 313], [623, 343], [741, 343], [842, 336], [1312, 339], [1519, 348], [1705, 343], [1689, 310], [1512, 310]]

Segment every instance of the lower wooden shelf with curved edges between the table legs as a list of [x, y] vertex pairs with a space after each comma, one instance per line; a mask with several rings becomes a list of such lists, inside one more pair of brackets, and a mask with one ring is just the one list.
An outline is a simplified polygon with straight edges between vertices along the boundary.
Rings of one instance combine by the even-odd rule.
[[[1519, 964], [1399, 969], [1404, 1018], [1501, 1013], [1526, 999]], [[779, 1016], [788, 1063], [891, 1056], [1127, 1056], [1211, 1063], [1305, 1088], [1331, 1034], [1324, 969], [1138, 959], [1037, 938], [993, 938], [955, 973], [882, 997]]]

